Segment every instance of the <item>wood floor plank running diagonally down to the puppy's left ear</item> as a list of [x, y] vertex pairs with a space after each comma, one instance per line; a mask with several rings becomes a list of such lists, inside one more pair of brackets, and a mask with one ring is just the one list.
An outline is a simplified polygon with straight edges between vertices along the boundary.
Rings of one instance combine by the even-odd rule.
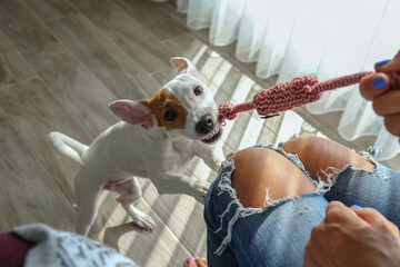
[[49, 27], [118, 97], [144, 99], [160, 85], [81, 14], [52, 21]]

